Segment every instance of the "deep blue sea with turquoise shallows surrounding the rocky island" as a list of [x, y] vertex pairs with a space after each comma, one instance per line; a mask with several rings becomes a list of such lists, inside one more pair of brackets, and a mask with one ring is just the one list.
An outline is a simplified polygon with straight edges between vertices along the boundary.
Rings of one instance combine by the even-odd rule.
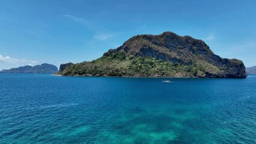
[[256, 77], [0, 74], [0, 143], [256, 143]]

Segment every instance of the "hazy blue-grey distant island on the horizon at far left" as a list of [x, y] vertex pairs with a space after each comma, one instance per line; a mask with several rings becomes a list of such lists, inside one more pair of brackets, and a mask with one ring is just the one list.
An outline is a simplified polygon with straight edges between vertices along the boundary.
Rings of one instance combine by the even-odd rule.
[[2, 70], [0, 73], [57, 73], [58, 68], [52, 64], [35, 65], [34, 67], [26, 65], [24, 67]]

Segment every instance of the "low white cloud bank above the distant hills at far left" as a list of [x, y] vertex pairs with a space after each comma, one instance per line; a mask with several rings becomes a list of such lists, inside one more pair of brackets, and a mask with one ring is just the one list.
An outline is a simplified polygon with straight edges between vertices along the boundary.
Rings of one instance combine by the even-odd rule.
[[32, 61], [29, 59], [16, 59], [16, 58], [10, 58], [10, 56], [2, 56], [0, 55], [0, 62], [7, 62], [7, 63], [11, 63], [11, 64], [36, 64], [37, 61]]

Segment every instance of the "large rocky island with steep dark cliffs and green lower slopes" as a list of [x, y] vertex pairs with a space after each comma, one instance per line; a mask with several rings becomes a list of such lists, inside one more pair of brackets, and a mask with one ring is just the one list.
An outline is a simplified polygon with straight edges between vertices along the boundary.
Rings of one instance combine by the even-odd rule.
[[246, 77], [238, 59], [215, 55], [202, 40], [173, 32], [136, 35], [101, 58], [61, 64], [62, 76]]

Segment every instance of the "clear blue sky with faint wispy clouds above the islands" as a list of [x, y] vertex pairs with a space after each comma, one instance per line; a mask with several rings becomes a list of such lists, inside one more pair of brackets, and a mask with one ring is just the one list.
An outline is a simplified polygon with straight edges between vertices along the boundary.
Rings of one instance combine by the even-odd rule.
[[0, 70], [91, 61], [134, 35], [165, 31], [256, 65], [255, 0], [1, 0]]

